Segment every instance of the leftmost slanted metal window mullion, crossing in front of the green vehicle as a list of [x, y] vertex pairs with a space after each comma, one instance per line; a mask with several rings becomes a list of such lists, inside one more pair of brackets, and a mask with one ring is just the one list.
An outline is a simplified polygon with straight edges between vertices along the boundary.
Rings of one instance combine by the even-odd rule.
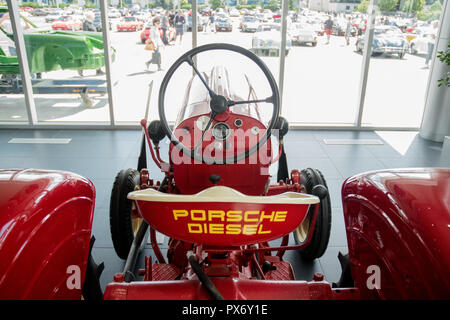
[[9, 18], [14, 34], [17, 59], [19, 62], [20, 75], [22, 77], [22, 88], [25, 96], [29, 124], [37, 123], [36, 105], [34, 104], [33, 85], [31, 83], [31, 73], [28, 65], [27, 51], [23, 37], [22, 25], [20, 23], [19, 6], [17, 1], [7, 0]]

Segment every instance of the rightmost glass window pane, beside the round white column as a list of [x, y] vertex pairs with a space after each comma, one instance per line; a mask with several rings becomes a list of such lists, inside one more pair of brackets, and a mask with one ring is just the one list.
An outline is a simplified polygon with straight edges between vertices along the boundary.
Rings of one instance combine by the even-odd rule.
[[365, 126], [420, 127], [422, 121], [440, 10], [420, 8], [419, 1], [400, 9], [401, 15], [376, 17]]

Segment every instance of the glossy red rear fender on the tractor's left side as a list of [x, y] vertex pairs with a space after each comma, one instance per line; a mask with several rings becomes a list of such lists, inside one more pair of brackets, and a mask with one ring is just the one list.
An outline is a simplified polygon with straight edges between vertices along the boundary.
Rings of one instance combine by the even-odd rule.
[[95, 188], [62, 171], [0, 170], [0, 299], [80, 299]]

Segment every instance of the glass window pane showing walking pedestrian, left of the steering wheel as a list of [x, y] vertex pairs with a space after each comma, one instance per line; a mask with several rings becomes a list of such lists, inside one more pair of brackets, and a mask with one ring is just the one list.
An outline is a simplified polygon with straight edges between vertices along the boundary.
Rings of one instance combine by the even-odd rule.
[[[116, 49], [112, 66], [115, 120], [126, 124], [144, 118], [152, 81], [149, 119], [159, 119], [160, 83], [175, 60], [192, 48], [188, 10], [168, 6], [108, 12], [111, 43]], [[146, 50], [149, 39], [156, 43], [156, 51]]]

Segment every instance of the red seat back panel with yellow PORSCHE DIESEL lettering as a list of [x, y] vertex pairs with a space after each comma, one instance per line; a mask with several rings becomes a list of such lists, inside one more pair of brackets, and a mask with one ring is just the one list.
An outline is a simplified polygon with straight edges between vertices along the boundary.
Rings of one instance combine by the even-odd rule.
[[182, 241], [213, 246], [278, 239], [297, 228], [309, 208], [308, 204], [243, 202], [137, 203], [139, 212], [155, 230]]

